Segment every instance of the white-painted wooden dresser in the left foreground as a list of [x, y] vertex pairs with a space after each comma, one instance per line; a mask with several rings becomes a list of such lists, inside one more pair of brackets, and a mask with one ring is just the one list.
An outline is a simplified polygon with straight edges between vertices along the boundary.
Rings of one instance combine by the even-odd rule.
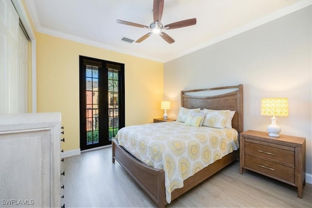
[[0, 114], [0, 207], [60, 207], [60, 113]]

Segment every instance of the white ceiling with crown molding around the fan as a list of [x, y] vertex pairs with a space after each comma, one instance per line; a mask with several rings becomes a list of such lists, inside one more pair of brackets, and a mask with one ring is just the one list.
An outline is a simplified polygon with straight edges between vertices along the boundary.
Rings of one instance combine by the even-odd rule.
[[196, 25], [165, 31], [169, 44], [149, 30], [118, 24], [117, 19], [149, 26], [153, 0], [26, 0], [41, 33], [166, 62], [301, 9], [311, 0], [165, 0], [161, 22], [196, 18]]

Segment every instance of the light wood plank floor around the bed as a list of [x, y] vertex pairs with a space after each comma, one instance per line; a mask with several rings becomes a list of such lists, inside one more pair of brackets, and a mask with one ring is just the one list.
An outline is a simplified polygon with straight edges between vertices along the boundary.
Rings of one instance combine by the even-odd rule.
[[[65, 207], [156, 207], [111, 155], [105, 148], [64, 159]], [[166, 207], [312, 208], [311, 184], [300, 199], [295, 187], [248, 170], [241, 175], [238, 168], [235, 161]]]

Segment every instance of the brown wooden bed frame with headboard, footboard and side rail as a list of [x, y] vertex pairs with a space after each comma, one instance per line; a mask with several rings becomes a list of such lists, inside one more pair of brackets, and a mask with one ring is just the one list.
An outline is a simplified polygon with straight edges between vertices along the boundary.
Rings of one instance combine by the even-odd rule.
[[[194, 93], [197, 94], [212, 91], [228, 92], [221, 95], [192, 95]], [[206, 108], [213, 110], [236, 111], [232, 120], [232, 127], [236, 129], [238, 133], [243, 132], [243, 85], [181, 91], [181, 106], [189, 109]], [[164, 170], [159, 170], [140, 162], [119, 146], [115, 139], [113, 139], [112, 142], [112, 157], [113, 163], [117, 160], [117, 162], [126, 169], [137, 184], [153, 199], [158, 207], [165, 207], [167, 201], [165, 196]], [[238, 157], [239, 152], [234, 151], [222, 157], [220, 160], [215, 161], [213, 164], [210, 164], [208, 167], [198, 171], [193, 176], [187, 178], [184, 180], [184, 186], [182, 188], [172, 191], [171, 200], [176, 199], [189, 189], [192, 189], [202, 181], [215, 174], [217, 171], [232, 163]]]

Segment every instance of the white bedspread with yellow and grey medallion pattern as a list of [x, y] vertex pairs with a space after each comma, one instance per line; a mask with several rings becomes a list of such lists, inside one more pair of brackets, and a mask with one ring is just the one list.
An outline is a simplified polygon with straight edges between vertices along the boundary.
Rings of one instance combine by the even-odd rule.
[[239, 148], [234, 129], [191, 127], [182, 122], [129, 126], [118, 131], [120, 146], [140, 161], [165, 171], [166, 200], [183, 180]]

